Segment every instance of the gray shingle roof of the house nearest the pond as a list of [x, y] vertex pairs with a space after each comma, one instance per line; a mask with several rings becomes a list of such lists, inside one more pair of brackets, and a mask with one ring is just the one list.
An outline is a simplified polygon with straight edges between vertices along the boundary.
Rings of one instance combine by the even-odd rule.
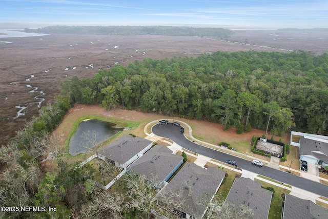
[[124, 135], [114, 142], [111, 142], [105, 148], [100, 149], [98, 153], [112, 161], [125, 164], [134, 155], [139, 153], [142, 149], [145, 149], [151, 143], [152, 141], [145, 138]]

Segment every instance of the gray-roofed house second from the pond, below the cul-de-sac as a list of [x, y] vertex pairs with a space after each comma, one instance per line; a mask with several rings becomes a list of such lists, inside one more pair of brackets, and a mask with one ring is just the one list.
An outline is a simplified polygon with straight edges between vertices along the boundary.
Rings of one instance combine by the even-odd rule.
[[[172, 154], [172, 151], [164, 145], [156, 145], [133, 162], [128, 171], [137, 175], [145, 175], [150, 182], [156, 181], [155, 187], [161, 187], [168, 182], [173, 173], [183, 163], [183, 157]], [[155, 182], [153, 182], [155, 183]]]

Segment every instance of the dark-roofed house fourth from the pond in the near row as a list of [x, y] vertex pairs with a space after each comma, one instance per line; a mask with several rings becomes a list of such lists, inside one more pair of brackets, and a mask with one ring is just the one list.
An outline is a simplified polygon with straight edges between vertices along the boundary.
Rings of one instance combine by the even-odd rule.
[[254, 219], [268, 218], [272, 191], [263, 189], [261, 184], [250, 178], [235, 178], [226, 201], [231, 201], [236, 208], [247, 205], [253, 209]]

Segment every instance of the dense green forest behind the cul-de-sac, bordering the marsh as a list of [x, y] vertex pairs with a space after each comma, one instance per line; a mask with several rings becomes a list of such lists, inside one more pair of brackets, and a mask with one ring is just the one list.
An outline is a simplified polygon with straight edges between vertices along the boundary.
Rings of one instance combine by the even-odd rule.
[[65, 81], [72, 103], [121, 104], [165, 115], [218, 122], [237, 133], [251, 127], [282, 135], [324, 134], [328, 55], [311, 52], [215, 52], [197, 58], [145, 59], [93, 78]]

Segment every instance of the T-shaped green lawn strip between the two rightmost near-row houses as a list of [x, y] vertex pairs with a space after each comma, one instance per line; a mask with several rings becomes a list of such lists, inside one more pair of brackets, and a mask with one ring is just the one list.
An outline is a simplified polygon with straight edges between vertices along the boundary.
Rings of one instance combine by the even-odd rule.
[[255, 179], [254, 181], [259, 182], [263, 188], [272, 187], [275, 190], [275, 194], [271, 200], [270, 210], [269, 210], [269, 217], [268, 219], [280, 219], [282, 206], [281, 206], [281, 194], [283, 193], [290, 193], [291, 190], [284, 189], [278, 186], [275, 186], [270, 183], [263, 182], [261, 180]]

